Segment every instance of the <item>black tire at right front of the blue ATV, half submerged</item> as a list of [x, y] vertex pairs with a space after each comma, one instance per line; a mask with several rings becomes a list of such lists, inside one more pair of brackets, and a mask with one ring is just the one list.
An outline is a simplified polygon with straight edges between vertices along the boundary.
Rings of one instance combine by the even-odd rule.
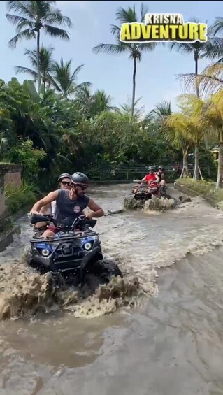
[[123, 274], [117, 264], [106, 259], [103, 259], [103, 261], [97, 261], [92, 266], [91, 272], [106, 282], [109, 282], [110, 278], [112, 277], [120, 276], [123, 278]]

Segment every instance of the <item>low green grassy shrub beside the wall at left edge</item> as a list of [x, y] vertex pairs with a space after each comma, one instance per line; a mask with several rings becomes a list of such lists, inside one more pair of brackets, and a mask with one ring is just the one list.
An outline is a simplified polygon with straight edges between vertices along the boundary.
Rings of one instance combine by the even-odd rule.
[[10, 216], [17, 214], [28, 206], [31, 208], [37, 200], [31, 185], [25, 183], [20, 187], [16, 185], [6, 185], [5, 197], [8, 215]]

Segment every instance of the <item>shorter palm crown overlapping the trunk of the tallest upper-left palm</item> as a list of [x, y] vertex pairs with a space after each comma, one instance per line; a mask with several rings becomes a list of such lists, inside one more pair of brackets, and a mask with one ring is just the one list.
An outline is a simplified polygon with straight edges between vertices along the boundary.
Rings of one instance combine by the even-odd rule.
[[[41, 47], [39, 52], [39, 70], [41, 74], [41, 80], [43, 81], [43, 92], [45, 92], [45, 85], [48, 83], [50, 86], [51, 76], [53, 70], [53, 60], [52, 60], [52, 52], [53, 48], [50, 47]], [[28, 67], [23, 66], [15, 66], [16, 73], [27, 73], [29, 76], [34, 78], [34, 81], [38, 80], [38, 72], [37, 72], [37, 51], [36, 50], [25, 50], [24, 55], [29, 57], [29, 61], [33, 66], [33, 69], [29, 69]]]

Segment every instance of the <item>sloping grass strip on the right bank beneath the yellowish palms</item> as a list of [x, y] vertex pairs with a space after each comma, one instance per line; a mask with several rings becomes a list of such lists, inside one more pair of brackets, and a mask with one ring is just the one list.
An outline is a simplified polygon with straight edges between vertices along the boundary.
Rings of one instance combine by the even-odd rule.
[[208, 198], [213, 201], [214, 206], [223, 208], [223, 189], [215, 189], [216, 182], [213, 182], [213, 180], [199, 180], [193, 182], [192, 178], [179, 178], [175, 180], [175, 182], [179, 185], [184, 185], [203, 198]]

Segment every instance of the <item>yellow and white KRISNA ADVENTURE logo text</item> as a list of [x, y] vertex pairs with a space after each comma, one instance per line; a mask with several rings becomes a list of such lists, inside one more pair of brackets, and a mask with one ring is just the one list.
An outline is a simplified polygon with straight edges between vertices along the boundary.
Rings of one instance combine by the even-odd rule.
[[177, 41], [194, 43], [207, 41], [206, 23], [184, 23], [181, 14], [145, 14], [145, 22], [122, 23], [120, 41], [151, 43]]

